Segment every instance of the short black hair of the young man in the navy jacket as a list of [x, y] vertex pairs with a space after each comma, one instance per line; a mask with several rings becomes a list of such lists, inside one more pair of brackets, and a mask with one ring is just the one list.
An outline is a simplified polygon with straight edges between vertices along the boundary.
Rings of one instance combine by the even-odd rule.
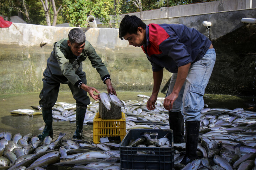
[[125, 15], [120, 23], [119, 38], [123, 40], [123, 36], [127, 33], [137, 34], [138, 27], [146, 29], [146, 24], [135, 15]]

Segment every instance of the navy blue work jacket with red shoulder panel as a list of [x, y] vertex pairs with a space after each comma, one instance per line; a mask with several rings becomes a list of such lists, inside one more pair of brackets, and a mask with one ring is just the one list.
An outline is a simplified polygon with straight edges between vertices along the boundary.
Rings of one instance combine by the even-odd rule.
[[177, 73], [178, 67], [199, 61], [211, 44], [206, 36], [183, 24], [149, 24], [142, 50], [153, 72], [166, 68]]

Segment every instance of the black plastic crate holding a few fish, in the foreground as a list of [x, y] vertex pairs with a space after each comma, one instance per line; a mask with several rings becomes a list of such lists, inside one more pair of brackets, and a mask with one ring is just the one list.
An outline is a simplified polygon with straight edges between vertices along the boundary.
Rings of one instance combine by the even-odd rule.
[[[142, 137], [142, 132], [150, 132], [151, 138], [160, 139], [169, 132], [171, 147], [130, 147], [130, 140]], [[150, 154], [139, 154], [143, 151]], [[121, 169], [151, 169], [151, 170], [173, 170], [174, 169], [174, 146], [173, 131], [170, 129], [131, 129], [128, 131], [123, 141], [120, 143], [120, 162]]]

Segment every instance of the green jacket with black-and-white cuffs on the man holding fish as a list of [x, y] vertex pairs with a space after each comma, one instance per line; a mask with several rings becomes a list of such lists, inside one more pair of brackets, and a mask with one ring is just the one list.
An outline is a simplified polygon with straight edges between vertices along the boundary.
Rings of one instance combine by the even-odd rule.
[[75, 56], [68, 46], [68, 38], [64, 38], [54, 43], [54, 50], [47, 60], [47, 66], [54, 77], [62, 81], [70, 81], [77, 86], [81, 79], [79, 73], [82, 72], [82, 61], [86, 58], [91, 61], [92, 67], [96, 68], [102, 80], [110, 77], [108, 70], [101, 58], [97, 55], [94, 47], [89, 41], [85, 41], [85, 47], [79, 57]]

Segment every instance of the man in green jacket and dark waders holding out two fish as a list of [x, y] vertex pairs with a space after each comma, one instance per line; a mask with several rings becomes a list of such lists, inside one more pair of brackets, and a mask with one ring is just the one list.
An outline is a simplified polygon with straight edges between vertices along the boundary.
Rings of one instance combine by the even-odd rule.
[[100, 74], [103, 83], [107, 85], [108, 93], [116, 95], [111, 84], [110, 74], [94, 47], [86, 41], [85, 33], [79, 28], [71, 29], [68, 38], [54, 43], [54, 49], [47, 60], [47, 68], [43, 73], [43, 89], [39, 95], [41, 98], [39, 104], [46, 125], [42, 134], [38, 135], [40, 140], [48, 135], [53, 136], [52, 107], [57, 101], [60, 83], [68, 84], [76, 100], [76, 131], [73, 137], [82, 138], [85, 112], [87, 105], [90, 104], [87, 92], [94, 100], [100, 99], [93, 93], [99, 93], [99, 91], [86, 85], [85, 72], [82, 71], [82, 61], [86, 57]]

